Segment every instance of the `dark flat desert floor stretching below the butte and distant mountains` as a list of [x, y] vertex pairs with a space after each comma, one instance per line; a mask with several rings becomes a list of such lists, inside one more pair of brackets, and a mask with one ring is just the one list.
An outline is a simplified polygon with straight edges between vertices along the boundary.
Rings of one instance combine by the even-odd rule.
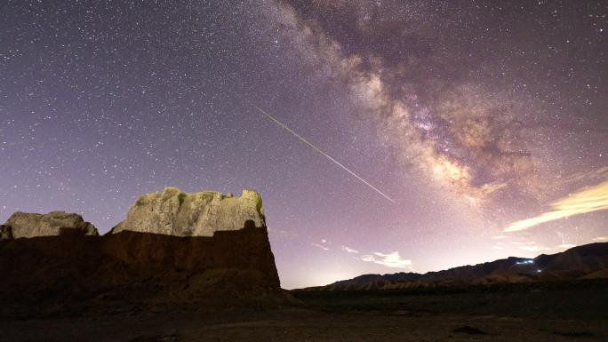
[[607, 341], [608, 282], [294, 292], [306, 306], [0, 322], [3, 341]]

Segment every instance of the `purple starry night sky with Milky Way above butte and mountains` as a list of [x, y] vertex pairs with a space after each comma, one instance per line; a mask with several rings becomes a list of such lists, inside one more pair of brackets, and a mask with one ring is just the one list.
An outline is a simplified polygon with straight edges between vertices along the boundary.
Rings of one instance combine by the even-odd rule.
[[604, 1], [0, 13], [0, 223], [255, 189], [286, 289], [608, 241]]

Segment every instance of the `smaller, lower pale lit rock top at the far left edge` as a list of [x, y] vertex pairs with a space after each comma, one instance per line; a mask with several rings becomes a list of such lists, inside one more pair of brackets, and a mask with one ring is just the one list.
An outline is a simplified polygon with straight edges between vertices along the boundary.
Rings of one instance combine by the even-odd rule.
[[[56, 235], [100, 235], [90, 222], [82, 216], [65, 211], [52, 211], [46, 215], [17, 211], [12, 214], [2, 229], [0, 239]], [[10, 233], [9, 233], [10, 232]], [[4, 237], [6, 236], [6, 237]]]

